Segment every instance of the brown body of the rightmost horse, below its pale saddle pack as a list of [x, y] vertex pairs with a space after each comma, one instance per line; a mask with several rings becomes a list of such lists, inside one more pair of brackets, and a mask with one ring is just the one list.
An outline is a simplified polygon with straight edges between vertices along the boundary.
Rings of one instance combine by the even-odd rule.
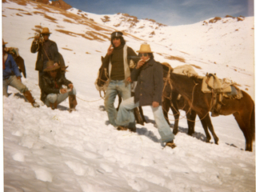
[[[182, 94], [199, 118], [204, 119], [208, 127], [212, 126], [209, 112], [213, 106], [213, 95], [202, 93], [202, 79], [170, 73], [170, 82], [174, 89]], [[245, 91], [242, 91], [242, 94], [243, 97], [240, 99], [223, 98], [219, 114], [234, 115], [246, 138], [246, 150], [252, 151], [255, 137], [254, 101]]]

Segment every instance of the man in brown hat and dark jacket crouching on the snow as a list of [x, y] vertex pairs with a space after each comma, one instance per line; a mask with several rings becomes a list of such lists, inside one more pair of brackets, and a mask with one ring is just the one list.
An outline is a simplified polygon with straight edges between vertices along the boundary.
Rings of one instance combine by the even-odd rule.
[[[78, 105], [76, 91], [72, 82], [67, 80], [60, 70], [60, 66], [50, 61], [46, 63], [46, 69], [42, 75], [41, 100], [53, 110], [57, 109], [59, 103], [69, 97], [70, 112]], [[67, 88], [63, 88], [66, 86]]]

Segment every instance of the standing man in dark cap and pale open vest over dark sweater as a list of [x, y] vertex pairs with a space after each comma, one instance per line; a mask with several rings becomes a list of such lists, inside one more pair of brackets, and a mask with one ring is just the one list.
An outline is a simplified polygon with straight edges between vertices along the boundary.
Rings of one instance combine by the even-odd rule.
[[[130, 98], [130, 60], [138, 58], [137, 54], [122, 37], [122, 32], [114, 31], [111, 34], [111, 45], [107, 50], [106, 57], [103, 59], [103, 67], [108, 69], [110, 83], [107, 86], [105, 97], [105, 108], [109, 122], [115, 125], [114, 118], [117, 110], [114, 107], [114, 100], [118, 94], [124, 100]], [[135, 126], [131, 125], [132, 127]]]

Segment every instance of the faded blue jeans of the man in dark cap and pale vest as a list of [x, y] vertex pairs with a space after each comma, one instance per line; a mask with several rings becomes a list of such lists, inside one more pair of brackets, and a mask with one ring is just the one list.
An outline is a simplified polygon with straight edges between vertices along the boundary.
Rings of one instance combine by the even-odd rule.
[[106, 96], [105, 96], [105, 108], [106, 113], [108, 115], [110, 124], [113, 126], [117, 126], [115, 124], [115, 118], [118, 114], [118, 111], [114, 107], [114, 100], [116, 96], [120, 94], [123, 100], [130, 98], [130, 84], [126, 85], [126, 83], [122, 81], [114, 81], [111, 80], [110, 84], [106, 88]]

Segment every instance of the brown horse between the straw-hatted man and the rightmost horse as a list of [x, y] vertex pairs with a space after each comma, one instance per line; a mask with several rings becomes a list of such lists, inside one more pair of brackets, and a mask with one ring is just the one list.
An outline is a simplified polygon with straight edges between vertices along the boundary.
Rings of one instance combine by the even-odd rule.
[[[180, 97], [178, 94], [178, 91], [174, 89], [174, 87], [170, 83], [170, 79], [167, 78], [167, 76], [170, 74], [170, 71], [173, 70], [169, 64], [163, 64], [163, 77], [165, 81], [164, 90], [162, 91], [162, 110], [163, 114], [166, 118], [166, 121], [170, 125], [169, 119], [168, 119], [168, 111], [171, 109], [174, 114], [174, 130], [173, 133], [178, 133], [178, 118], [180, 116], [178, 110], [185, 110], [186, 111], [186, 119], [188, 124], [188, 133], [189, 135], [194, 134], [194, 124], [195, 124], [195, 118], [196, 118], [196, 112], [190, 108], [189, 102], [186, 101], [184, 97]], [[210, 122], [207, 124], [207, 122]], [[218, 137], [214, 132], [214, 126], [212, 125], [210, 121], [210, 115], [209, 113], [206, 114], [206, 118], [202, 118], [201, 120], [202, 127], [205, 130], [206, 133], [206, 142], [210, 142], [210, 134], [208, 131], [208, 128], [210, 132], [212, 133], [214, 137], [214, 143], [218, 144]]]

